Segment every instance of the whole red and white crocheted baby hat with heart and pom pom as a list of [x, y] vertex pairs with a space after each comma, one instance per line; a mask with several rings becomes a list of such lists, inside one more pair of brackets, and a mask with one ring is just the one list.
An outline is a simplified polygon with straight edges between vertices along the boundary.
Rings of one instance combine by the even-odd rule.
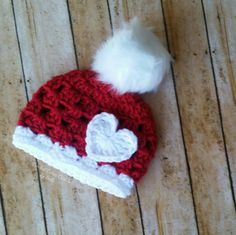
[[151, 111], [133, 92], [155, 89], [168, 61], [152, 32], [137, 20], [126, 24], [92, 70], [56, 76], [33, 95], [13, 144], [82, 183], [129, 196], [157, 145]]

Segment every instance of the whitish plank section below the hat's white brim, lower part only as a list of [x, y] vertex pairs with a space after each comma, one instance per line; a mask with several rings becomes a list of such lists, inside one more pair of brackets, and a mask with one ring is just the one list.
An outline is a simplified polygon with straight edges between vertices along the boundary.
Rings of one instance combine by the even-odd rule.
[[48, 233], [102, 234], [96, 191], [46, 164], [40, 170]]

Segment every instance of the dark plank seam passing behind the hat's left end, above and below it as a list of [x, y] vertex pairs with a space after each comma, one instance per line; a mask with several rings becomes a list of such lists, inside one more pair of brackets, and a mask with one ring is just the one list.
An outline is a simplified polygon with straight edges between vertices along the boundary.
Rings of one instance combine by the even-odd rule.
[[[13, 12], [13, 18], [14, 18], [15, 31], [16, 31], [17, 45], [18, 45], [19, 54], [20, 54], [21, 70], [22, 70], [22, 74], [23, 74], [23, 84], [24, 84], [24, 89], [25, 89], [26, 100], [28, 102], [29, 101], [29, 94], [28, 94], [28, 89], [26, 86], [26, 78], [25, 78], [25, 71], [24, 71], [24, 65], [23, 65], [23, 59], [22, 59], [22, 51], [21, 51], [21, 46], [20, 46], [20, 41], [19, 41], [19, 36], [18, 36], [18, 28], [17, 28], [17, 24], [16, 24], [16, 15], [15, 15], [15, 8], [14, 8], [13, 0], [11, 0], [11, 3], [12, 3], [12, 12]], [[37, 177], [38, 177], [39, 192], [40, 192], [41, 205], [42, 205], [45, 233], [46, 233], [46, 235], [48, 235], [47, 220], [46, 220], [45, 206], [44, 206], [43, 193], [42, 193], [42, 185], [41, 185], [39, 165], [38, 165], [37, 159], [35, 159], [35, 165], [36, 165], [36, 169], [37, 169]]]

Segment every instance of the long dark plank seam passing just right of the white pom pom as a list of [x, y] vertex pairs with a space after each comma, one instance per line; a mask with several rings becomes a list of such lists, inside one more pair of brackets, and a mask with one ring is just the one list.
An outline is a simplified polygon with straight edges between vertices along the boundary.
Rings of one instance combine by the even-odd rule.
[[[168, 31], [167, 31], [167, 23], [166, 23], [166, 17], [165, 17], [163, 0], [160, 0], [160, 1], [161, 1], [161, 10], [162, 10], [162, 16], [163, 16], [163, 22], [164, 22], [164, 29], [165, 29], [165, 35], [166, 35], [167, 48], [168, 48], [168, 51], [171, 54], [170, 43], [169, 43], [169, 35], [168, 35]], [[188, 160], [188, 153], [187, 153], [186, 142], [185, 142], [185, 138], [184, 138], [182, 118], [181, 118], [181, 115], [180, 115], [180, 105], [179, 105], [179, 99], [178, 99], [178, 94], [177, 94], [177, 89], [176, 89], [176, 81], [175, 81], [174, 68], [173, 68], [173, 64], [172, 63], [171, 63], [171, 74], [172, 74], [172, 79], [173, 79], [173, 84], [174, 84], [174, 91], [175, 91], [177, 110], [178, 110], [178, 116], [179, 116], [179, 122], [180, 122], [181, 136], [182, 136], [183, 146], [184, 146], [186, 165], [187, 165], [187, 169], [188, 169], [188, 176], [189, 176], [190, 189], [191, 189], [191, 195], [192, 195], [192, 202], [193, 202], [193, 208], [194, 208], [194, 218], [195, 218], [195, 221], [196, 221], [197, 233], [199, 234], [199, 225], [198, 225], [198, 218], [197, 218], [196, 203], [195, 203], [195, 198], [194, 198], [194, 193], [193, 193], [193, 184], [192, 184], [192, 177], [191, 177], [191, 172], [190, 172], [190, 164], [189, 164], [189, 160]]]

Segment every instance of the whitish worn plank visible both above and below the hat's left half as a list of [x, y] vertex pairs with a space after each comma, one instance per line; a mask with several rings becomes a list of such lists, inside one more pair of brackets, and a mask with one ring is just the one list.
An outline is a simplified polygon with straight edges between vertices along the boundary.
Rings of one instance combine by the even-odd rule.
[[[76, 68], [67, 3], [14, 1], [28, 94]], [[96, 190], [39, 162], [49, 234], [101, 234]], [[91, 226], [92, 225], [92, 226]]]

